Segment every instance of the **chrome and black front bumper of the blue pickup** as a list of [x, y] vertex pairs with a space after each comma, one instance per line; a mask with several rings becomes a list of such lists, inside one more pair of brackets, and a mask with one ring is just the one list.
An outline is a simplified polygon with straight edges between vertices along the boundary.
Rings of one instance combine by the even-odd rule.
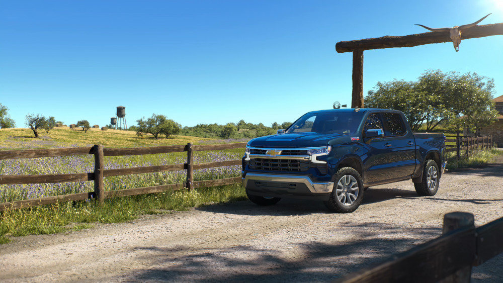
[[308, 176], [247, 173], [241, 180], [245, 188], [264, 187], [268, 188], [268, 191], [275, 191], [274, 188], [277, 187], [276, 191], [284, 191], [288, 195], [295, 193], [297, 187], [300, 190], [305, 187], [313, 195], [329, 194], [333, 188], [333, 182], [313, 182]]

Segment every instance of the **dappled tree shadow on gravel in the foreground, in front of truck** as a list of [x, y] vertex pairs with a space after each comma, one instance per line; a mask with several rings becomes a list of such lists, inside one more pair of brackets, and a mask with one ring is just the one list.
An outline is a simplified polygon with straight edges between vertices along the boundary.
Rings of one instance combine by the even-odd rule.
[[[356, 229], [355, 229], [356, 228]], [[240, 245], [231, 247], [145, 246], [158, 258], [158, 268], [135, 273], [138, 281], [329, 281], [361, 268], [377, 264], [441, 234], [439, 227], [397, 228], [382, 223], [342, 224], [355, 241], [341, 244], [321, 242], [292, 243], [286, 250]], [[381, 233], [375, 233], [376, 230]], [[382, 234], [400, 235], [383, 239]], [[302, 240], [299, 240], [302, 241]], [[211, 246], [211, 245], [209, 245]], [[292, 252], [293, 251], [293, 252]], [[181, 253], [188, 255], [178, 256]], [[236, 255], [237, 253], [237, 255]], [[152, 254], [150, 254], [152, 256]]]

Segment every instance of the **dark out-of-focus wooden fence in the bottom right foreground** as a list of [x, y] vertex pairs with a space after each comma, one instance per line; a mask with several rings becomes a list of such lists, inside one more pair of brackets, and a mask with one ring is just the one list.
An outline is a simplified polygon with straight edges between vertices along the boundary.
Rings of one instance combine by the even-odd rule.
[[444, 216], [443, 235], [335, 282], [469, 282], [472, 266], [503, 252], [503, 218], [475, 229], [473, 215]]

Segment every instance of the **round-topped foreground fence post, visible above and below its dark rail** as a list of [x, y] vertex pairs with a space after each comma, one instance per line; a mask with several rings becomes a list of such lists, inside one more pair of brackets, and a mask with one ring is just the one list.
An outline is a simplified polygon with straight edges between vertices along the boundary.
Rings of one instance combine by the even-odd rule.
[[[442, 234], [446, 234], [458, 228], [472, 227], [475, 228], [473, 221], [473, 214], [466, 212], [451, 212], [444, 215], [444, 227]], [[454, 274], [447, 276], [440, 282], [470, 282], [471, 278], [471, 265], [465, 266], [462, 269], [454, 272]]]

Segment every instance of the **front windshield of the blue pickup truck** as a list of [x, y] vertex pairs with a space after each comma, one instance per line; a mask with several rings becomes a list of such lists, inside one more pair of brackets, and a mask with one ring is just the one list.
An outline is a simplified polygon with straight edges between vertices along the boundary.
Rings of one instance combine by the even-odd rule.
[[308, 113], [295, 121], [286, 133], [317, 132], [349, 134], [356, 132], [363, 113]]

